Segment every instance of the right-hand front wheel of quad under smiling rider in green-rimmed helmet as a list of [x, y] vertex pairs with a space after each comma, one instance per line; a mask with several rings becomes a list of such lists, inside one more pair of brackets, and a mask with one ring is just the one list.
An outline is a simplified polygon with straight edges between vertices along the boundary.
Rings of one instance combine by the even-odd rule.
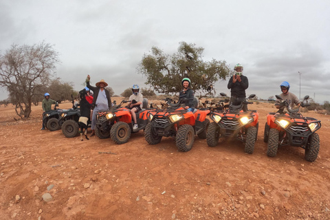
[[177, 135], [175, 137], [175, 143], [177, 144], [177, 149], [179, 151], [187, 152], [192, 148], [195, 140], [195, 131], [190, 124], [183, 124], [177, 130]]

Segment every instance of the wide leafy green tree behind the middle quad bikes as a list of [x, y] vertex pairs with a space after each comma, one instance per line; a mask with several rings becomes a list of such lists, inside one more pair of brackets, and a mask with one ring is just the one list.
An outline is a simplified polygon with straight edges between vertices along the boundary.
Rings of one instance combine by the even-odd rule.
[[146, 76], [146, 84], [161, 94], [177, 93], [182, 88], [182, 78], [188, 77], [195, 93], [212, 95], [215, 94], [214, 83], [225, 80], [231, 70], [225, 61], [203, 61], [203, 50], [195, 44], [181, 42], [177, 53], [170, 56], [152, 47], [151, 54], [142, 57], [137, 72]]

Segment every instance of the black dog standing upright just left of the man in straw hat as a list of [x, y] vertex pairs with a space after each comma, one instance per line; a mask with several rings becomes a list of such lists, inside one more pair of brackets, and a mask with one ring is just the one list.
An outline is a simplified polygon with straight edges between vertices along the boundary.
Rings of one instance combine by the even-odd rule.
[[[79, 91], [80, 96], [80, 118], [79, 118], [79, 128], [80, 128], [80, 140], [83, 141], [83, 133], [85, 134], [85, 137], [87, 140], [89, 138], [87, 137], [87, 129], [88, 129], [88, 121], [89, 117], [91, 115], [91, 104], [86, 100], [87, 91], [86, 89], [83, 89]], [[84, 132], [85, 129], [85, 132]]]

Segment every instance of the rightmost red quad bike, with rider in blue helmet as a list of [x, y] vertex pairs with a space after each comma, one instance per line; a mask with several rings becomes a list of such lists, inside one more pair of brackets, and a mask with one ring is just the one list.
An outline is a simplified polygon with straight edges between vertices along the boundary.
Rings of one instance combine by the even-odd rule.
[[[263, 141], [268, 142], [267, 156], [275, 157], [278, 146], [300, 146], [305, 149], [305, 159], [314, 162], [320, 149], [320, 137], [316, 133], [321, 128], [320, 120], [303, 117], [298, 113], [299, 109], [291, 109], [281, 96], [276, 95], [276, 98], [281, 100], [281, 104], [277, 105], [285, 106], [285, 110], [267, 114], [263, 137]], [[301, 107], [309, 106], [308, 98], [309, 96], [305, 96]]]

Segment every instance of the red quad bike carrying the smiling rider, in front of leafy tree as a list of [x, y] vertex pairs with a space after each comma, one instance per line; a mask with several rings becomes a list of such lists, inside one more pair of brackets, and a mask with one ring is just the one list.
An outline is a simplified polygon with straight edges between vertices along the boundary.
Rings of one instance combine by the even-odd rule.
[[188, 112], [180, 107], [183, 102], [184, 100], [177, 104], [168, 103], [169, 107], [166, 109], [148, 111], [149, 123], [144, 130], [148, 144], [158, 144], [162, 137], [174, 137], [178, 151], [186, 152], [191, 150], [196, 134], [199, 138], [206, 139], [206, 131], [210, 124], [206, 115], [210, 110], [195, 109], [194, 112]]

